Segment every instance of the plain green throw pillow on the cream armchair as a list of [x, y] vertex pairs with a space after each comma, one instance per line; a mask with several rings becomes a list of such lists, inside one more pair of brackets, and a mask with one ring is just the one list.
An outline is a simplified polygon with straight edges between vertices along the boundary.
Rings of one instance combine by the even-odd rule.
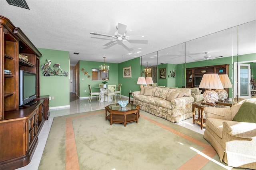
[[232, 121], [256, 123], [256, 103], [244, 102]]

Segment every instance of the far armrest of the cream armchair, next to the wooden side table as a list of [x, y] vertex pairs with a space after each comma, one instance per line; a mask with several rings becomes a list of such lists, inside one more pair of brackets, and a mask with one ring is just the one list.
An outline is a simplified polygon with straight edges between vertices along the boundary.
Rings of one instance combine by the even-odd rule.
[[232, 121], [232, 114], [230, 108], [218, 108], [218, 107], [205, 107], [205, 118], [215, 118]]

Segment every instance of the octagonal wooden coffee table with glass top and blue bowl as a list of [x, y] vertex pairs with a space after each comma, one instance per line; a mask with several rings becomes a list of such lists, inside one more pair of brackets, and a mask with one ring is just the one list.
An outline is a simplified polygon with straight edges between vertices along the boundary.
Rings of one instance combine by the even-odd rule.
[[[111, 104], [105, 107], [106, 120], [112, 123], [122, 123], [126, 127], [126, 123], [135, 122], [138, 123], [140, 117], [140, 106], [128, 103], [126, 107], [121, 107], [118, 103]], [[109, 113], [109, 115], [107, 115]]]

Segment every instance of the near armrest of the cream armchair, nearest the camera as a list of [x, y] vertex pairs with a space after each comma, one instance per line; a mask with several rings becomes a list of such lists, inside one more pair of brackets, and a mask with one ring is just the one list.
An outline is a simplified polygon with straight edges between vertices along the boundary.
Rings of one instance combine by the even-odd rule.
[[256, 123], [227, 121], [223, 122], [223, 130], [239, 138], [256, 138]]

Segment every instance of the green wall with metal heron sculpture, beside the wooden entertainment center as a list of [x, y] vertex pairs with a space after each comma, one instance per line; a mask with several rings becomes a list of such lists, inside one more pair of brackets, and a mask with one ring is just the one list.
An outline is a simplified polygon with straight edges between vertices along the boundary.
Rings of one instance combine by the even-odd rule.
[[[38, 48], [42, 57], [40, 65], [44, 65], [47, 60], [51, 60], [51, 66], [60, 63], [62, 71], [69, 73], [69, 52], [53, 49]], [[69, 75], [65, 76], [43, 76], [40, 69], [40, 95], [50, 95], [54, 99], [50, 100], [50, 107], [60, 107], [69, 105]]]

